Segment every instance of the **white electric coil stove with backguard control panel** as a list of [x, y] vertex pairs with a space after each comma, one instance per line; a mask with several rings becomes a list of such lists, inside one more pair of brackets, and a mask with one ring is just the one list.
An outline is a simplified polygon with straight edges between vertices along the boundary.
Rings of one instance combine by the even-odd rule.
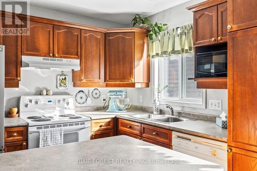
[[20, 117], [28, 122], [28, 148], [39, 147], [40, 129], [62, 127], [64, 143], [90, 140], [90, 118], [76, 114], [72, 95], [21, 96]]

